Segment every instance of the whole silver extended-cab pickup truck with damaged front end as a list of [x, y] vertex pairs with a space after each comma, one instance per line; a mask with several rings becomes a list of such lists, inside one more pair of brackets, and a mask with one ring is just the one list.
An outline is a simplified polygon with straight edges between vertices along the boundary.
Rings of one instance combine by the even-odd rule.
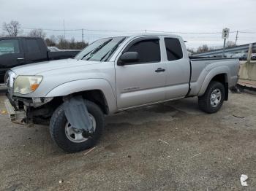
[[[238, 69], [238, 59], [189, 58], [180, 36], [116, 36], [93, 42], [73, 59], [11, 69], [6, 106], [14, 121], [50, 118], [53, 141], [78, 152], [96, 144], [105, 114], [192, 96], [204, 112], [217, 112], [238, 81]], [[75, 97], [84, 100], [91, 133], [67, 120], [64, 105]]]

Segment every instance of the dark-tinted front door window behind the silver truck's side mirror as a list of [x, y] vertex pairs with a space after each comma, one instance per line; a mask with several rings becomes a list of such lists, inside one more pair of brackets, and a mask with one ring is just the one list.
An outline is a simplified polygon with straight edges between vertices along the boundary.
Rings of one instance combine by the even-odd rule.
[[126, 52], [138, 52], [136, 63], [154, 63], [161, 61], [159, 39], [145, 39], [135, 42]]

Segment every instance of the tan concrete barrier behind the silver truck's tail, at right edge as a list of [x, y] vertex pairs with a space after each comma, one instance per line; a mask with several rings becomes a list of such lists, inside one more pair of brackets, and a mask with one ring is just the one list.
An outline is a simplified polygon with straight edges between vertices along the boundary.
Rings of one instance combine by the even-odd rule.
[[248, 79], [256, 81], [256, 61], [247, 63], [246, 61], [240, 62], [239, 70], [240, 79]]

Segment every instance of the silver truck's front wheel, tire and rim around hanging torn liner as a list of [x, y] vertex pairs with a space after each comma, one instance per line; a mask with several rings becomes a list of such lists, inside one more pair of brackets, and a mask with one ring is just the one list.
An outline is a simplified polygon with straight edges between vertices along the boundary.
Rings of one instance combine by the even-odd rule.
[[53, 141], [66, 152], [79, 152], [96, 144], [105, 126], [102, 110], [91, 101], [86, 101], [86, 107], [91, 118], [94, 132], [85, 136], [83, 131], [75, 129], [67, 121], [64, 104], [59, 106], [50, 119], [50, 136]]

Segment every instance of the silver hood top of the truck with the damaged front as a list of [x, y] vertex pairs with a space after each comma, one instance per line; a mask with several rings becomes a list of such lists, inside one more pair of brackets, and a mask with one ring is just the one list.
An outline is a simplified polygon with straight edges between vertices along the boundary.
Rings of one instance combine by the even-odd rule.
[[53, 71], [59, 69], [67, 69], [91, 65], [99, 63], [97, 61], [81, 61], [75, 59], [64, 59], [58, 61], [45, 61], [39, 63], [31, 63], [23, 66], [12, 68], [12, 71], [17, 75], [37, 75], [45, 71]]

